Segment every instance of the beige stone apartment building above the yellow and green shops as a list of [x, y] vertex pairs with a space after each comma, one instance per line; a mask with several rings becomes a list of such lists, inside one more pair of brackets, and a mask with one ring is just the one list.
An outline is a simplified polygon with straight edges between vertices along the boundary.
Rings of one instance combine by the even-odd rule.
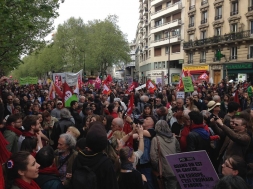
[[188, 0], [185, 11], [183, 69], [253, 81], [253, 0]]

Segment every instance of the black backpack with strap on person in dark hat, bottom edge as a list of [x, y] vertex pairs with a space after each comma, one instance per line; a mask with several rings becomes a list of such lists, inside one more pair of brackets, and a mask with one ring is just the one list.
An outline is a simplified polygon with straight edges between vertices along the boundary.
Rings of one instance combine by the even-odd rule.
[[91, 169], [88, 166], [78, 167], [73, 171], [71, 178], [71, 188], [72, 189], [97, 189], [98, 181], [97, 176], [94, 173], [102, 163], [104, 163], [108, 157], [103, 156], [96, 166]]

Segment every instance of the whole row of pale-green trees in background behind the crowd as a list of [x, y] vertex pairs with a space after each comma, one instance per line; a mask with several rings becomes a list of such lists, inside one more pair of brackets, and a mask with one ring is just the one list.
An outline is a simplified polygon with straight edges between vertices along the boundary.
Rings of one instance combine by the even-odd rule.
[[[116, 16], [85, 24], [70, 18], [58, 26], [53, 43], [26, 56], [13, 77], [42, 76], [49, 71], [105, 71], [107, 66], [131, 61], [126, 37], [117, 25]], [[104, 73], [104, 72], [103, 72]]]

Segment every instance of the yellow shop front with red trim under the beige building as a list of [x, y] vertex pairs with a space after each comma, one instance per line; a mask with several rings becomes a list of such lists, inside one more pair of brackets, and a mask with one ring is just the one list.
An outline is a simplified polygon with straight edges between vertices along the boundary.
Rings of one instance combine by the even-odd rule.
[[209, 66], [208, 65], [184, 65], [183, 71], [187, 74], [191, 74], [195, 81], [198, 80], [199, 76], [206, 73], [209, 76]]

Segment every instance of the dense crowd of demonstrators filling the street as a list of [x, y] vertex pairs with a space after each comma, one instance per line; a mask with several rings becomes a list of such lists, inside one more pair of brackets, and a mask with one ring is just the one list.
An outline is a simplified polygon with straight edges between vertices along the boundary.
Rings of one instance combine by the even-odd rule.
[[201, 82], [185, 98], [161, 84], [129, 94], [127, 84], [111, 84], [109, 95], [83, 87], [66, 108], [48, 85], [5, 79], [3, 188], [180, 189], [166, 155], [199, 150], [220, 177], [215, 189], [253, 187], [253, 84]]

